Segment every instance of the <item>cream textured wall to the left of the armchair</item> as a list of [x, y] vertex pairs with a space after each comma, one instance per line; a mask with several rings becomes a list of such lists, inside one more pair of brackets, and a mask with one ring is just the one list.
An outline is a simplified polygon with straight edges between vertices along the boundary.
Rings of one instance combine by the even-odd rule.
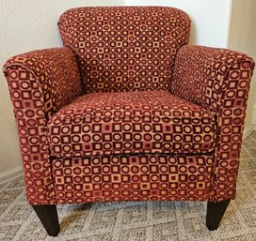
[[[35, 49], [61, 46], [57, 20], [68, 8], [121, 6], [124, 0], [1, 0], [0, 66], [8, 57]], [[0, 183], [21, 173], [22, 161], [8, 85], [0, 71]]]

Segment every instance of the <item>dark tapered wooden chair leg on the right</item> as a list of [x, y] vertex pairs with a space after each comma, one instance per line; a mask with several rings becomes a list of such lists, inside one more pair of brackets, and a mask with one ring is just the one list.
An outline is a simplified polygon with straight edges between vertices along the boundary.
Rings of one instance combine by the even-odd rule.
[[217, 229], [230, 202], [230, 200], [225, 200], [218, 203], [207, 203], [206, 226], [208, 230], [214, 231]]

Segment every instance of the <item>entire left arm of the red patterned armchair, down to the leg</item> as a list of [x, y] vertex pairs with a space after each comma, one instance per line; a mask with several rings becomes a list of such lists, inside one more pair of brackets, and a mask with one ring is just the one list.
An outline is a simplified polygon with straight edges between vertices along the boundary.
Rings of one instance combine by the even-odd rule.
[[8, 60], [4, 73], [20, 137], [28, 202], [54, 204], [46, 124], [50, 115], [82, 93], [74, 55], [67, 48], [20, 54]]

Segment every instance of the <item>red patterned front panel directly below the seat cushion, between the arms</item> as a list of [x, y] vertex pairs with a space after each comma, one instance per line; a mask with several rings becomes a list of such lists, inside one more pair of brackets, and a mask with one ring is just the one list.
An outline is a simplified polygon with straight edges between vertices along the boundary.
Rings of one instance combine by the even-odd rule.
[[53, 159], [57, 203], [207, 201], [213, 156], [120, 155]]

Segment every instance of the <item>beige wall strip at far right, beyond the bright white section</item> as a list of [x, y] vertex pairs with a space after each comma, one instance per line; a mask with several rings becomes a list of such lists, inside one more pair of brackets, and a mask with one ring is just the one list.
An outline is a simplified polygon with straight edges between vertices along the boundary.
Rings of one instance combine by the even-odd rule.
[[[256, 1], [233, 0], [228, 47], [248, 53], [256, 60]], [[256, 72], [256, 71], [254, 71]], [[256, 128], [256, 74], [253, 75], [248, 98], [245, 136]]]

